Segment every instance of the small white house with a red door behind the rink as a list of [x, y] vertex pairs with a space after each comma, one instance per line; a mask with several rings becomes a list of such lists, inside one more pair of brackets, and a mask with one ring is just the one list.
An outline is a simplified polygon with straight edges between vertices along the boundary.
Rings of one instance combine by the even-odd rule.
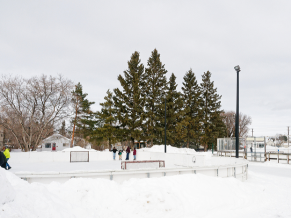
[[42, 140], [42, 151], [62, 151], [69, 148], [71, 140], [60, 134], [53, 134], [52, 136]]

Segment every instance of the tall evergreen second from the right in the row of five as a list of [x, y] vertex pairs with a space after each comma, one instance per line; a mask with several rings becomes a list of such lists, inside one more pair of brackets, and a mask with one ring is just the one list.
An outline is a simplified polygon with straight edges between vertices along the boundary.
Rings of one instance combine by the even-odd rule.
[[184, 136], [184, 141], [189, 144], [196, 144], [199, 140], [200, 135], [200, 89], [197, 79], [190, 69], [186, 72], [183, 82], [183, 114], [182, 121], [178, 125], [178, 134]]

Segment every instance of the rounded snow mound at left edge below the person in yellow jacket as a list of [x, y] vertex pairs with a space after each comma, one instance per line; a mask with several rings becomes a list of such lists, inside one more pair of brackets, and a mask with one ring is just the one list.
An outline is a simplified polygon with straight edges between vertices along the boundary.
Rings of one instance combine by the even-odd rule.
[[0, 205], [11, 202], [14, 198], [15, 191], [6, 178], [5, 170], [0, 167]]

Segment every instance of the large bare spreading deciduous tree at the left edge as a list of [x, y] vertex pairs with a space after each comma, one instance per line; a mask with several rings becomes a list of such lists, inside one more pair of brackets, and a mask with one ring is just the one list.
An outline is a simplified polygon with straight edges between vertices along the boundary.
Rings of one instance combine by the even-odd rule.
[[0, 78], [0, 122], [22, 151], [36, 150], [54, 126], [69, 115], [73, 82], [59, 75]]

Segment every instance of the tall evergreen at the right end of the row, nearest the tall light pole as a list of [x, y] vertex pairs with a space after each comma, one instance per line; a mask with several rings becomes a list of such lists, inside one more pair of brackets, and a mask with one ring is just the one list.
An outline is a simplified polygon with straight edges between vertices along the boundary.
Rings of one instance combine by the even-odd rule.
[[215, 142], [219, 135], [223, 134], [225, 125], [222, 120], [221, 95], [214, 89], [213, 81], [210, 81], [211, 73], [207, 71], [202, 75], [201, 87], [201, 108], [202, 108], [202, 134], [200, 142], [207, 151], [208, 144]]

